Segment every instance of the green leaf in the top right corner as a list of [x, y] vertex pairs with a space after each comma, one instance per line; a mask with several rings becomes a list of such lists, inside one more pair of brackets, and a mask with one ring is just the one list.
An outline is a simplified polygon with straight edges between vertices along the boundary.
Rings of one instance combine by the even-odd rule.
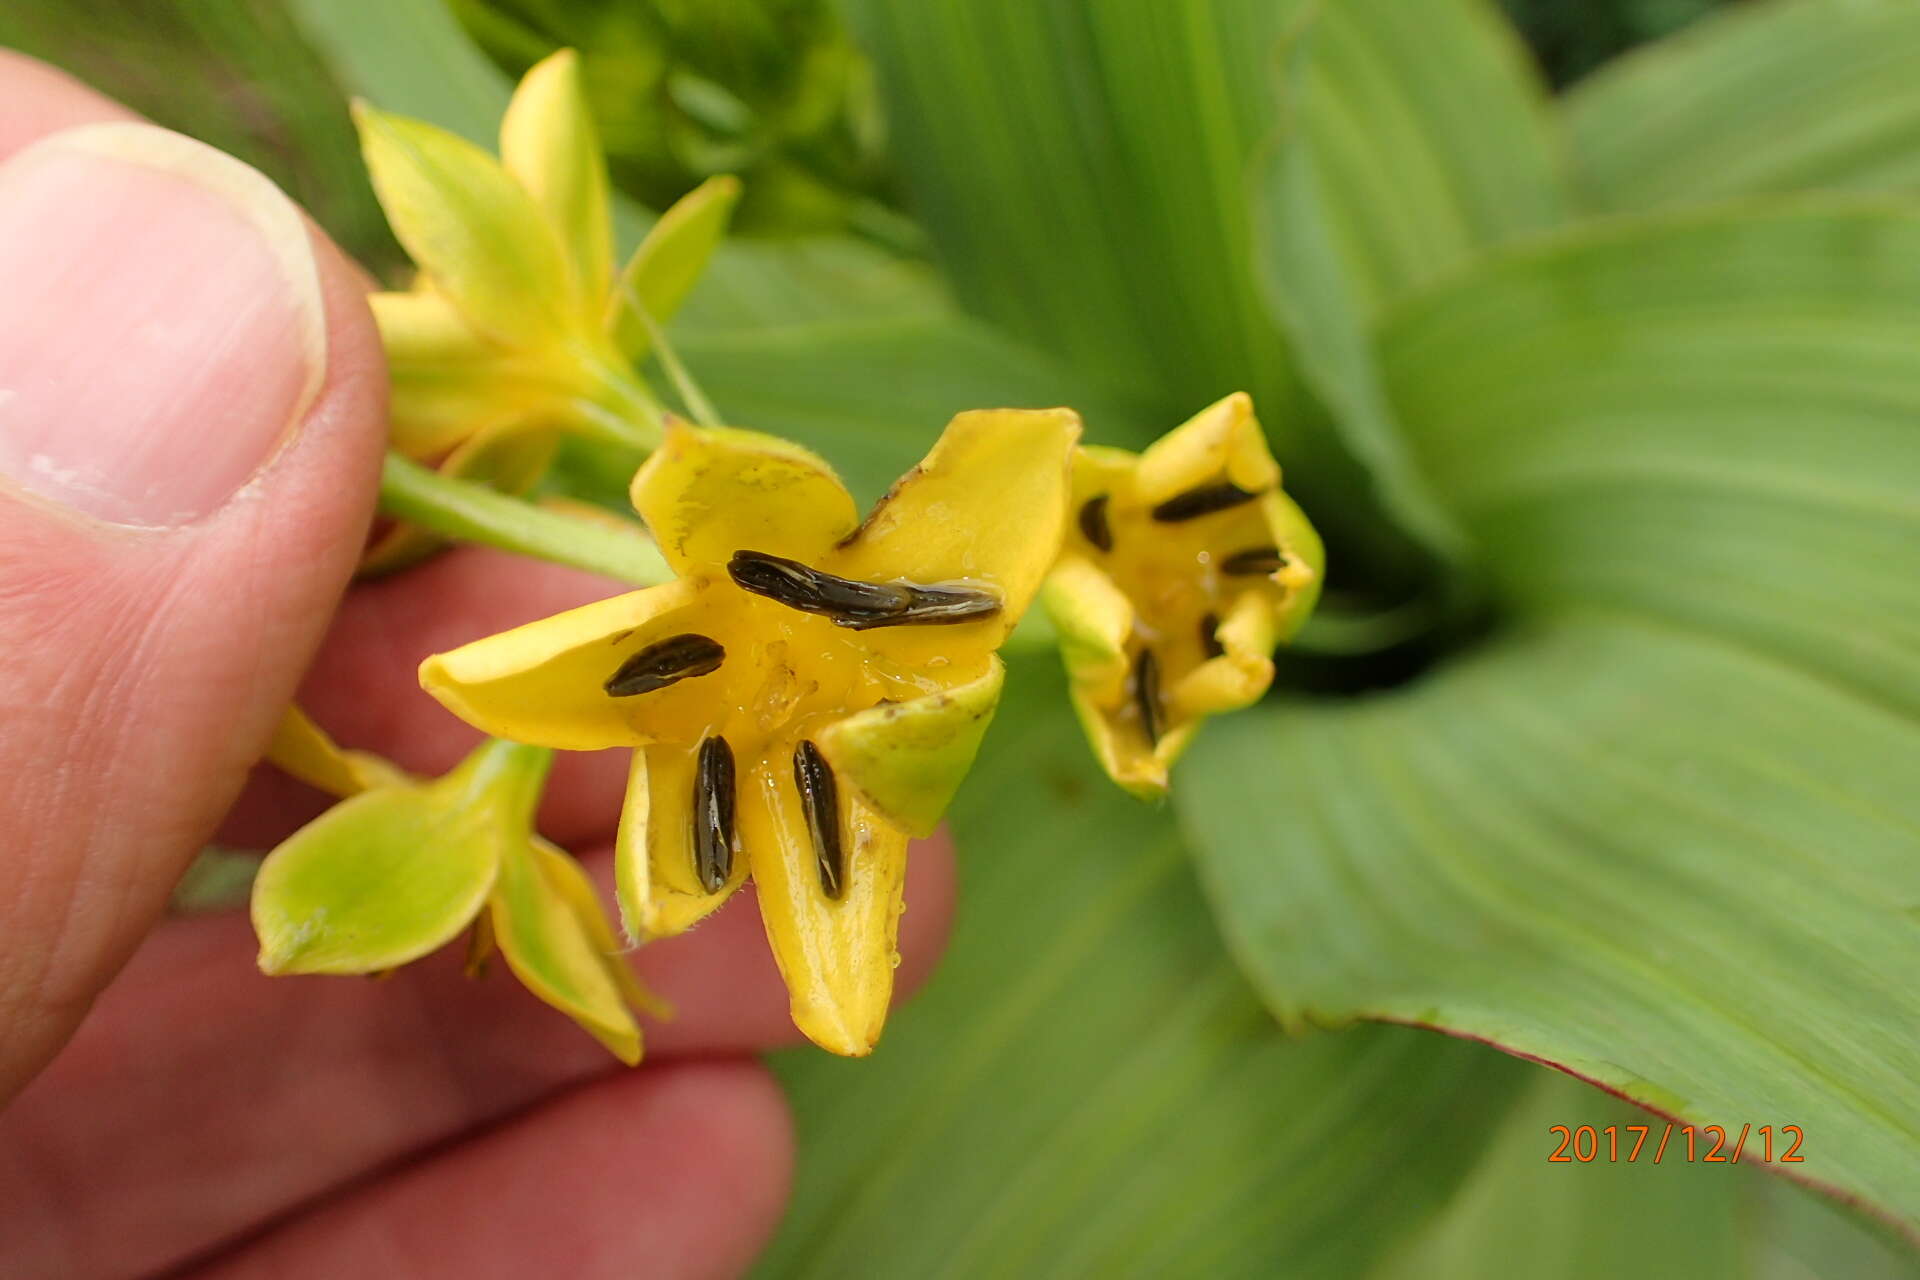
[[1920, 190], [1920, 8], [1726, 6], [1576, 86], [1580, 184], [1599, 209], [1799, 190]]

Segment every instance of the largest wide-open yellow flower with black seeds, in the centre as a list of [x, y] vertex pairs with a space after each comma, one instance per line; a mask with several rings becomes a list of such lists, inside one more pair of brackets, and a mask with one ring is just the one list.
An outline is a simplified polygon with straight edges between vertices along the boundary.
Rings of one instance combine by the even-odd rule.
[[618, 892], [678, 933], [751, 873], [793, 1021], [866, 1054], [893, 994], [910, 835], [998, 700], [996, 649], [1068, 518], [1066, 409], [964, 413], [862, 522], [812, 453], [674, 424], [634, 505], [674, 581], [428, 658], [488, 733], [634, 747]]

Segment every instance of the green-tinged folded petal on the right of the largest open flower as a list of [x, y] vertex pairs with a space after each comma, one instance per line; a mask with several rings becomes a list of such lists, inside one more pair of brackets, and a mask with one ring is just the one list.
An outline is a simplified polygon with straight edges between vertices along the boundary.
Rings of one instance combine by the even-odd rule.
[[1000, 658], [989, 656], [979, 679], [856, 712], [816, 733], [814, 745], [868, 806], [927, 837], [973, 768], [1004, 681]]

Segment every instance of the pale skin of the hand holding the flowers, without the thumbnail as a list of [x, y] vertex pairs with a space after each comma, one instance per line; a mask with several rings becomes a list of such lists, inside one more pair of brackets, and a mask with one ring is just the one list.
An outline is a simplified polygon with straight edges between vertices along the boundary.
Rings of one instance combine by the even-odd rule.
[[[131, 117], [0, 50], [0, 165], [111, 119]], [[419, 660], [618, 589], [480, 551], [348, 589], [384, 367], [361, 273], [311, 234], [324, 382], [246, 501], [123, 530], [0, 480], [0, 1274], [737, 1274], [793, 1161], [755, 1052], [797, 1034], [751, 894], [636, 960], [682, 1009], [649, 1023], [637, 1071], [457, 956], [386, 983], [263, 979], [242, 915], [165, 915], [207, 839], [271, 844], [319, 810], [250, 768], [296, 691], [340, 741], [438, 773], [474, 735], [419, 693]], [[129, 271], [75, 273], [36, 340], [96, 338], [140, 297]], [[0, 415], [8, 319], [0, 301]], [[192, 319], [173, 328], [192, 347]], [[198, 390], [223, 413], [253, 393], [207, 376], [232, 382]], [[136, 368], [88, 391], [115, 378], [138, 395]], [[563, 758], [541, 814], [597, 875], [624, 781], [616, 752]], [[945, 839], [914, 848], [906, 892], [910, 988], [952, 908]]]

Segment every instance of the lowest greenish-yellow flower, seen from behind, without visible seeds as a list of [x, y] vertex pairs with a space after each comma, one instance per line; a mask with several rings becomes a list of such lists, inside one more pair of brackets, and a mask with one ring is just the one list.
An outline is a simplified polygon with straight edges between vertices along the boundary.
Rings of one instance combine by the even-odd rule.
[[639, 1061], [630, 1009], [660, 1006], [620, 958], [586, 871], [532, 829], [553, 752], [492, 741], [445, 777], [417, 781], [340, 750], [290, 708], [269, 758], [349, 798], [261, 864], [261, 971], [384, 973], [470, 929], [468, 971], [499, 948], [528, 990], [620, 1061]]

